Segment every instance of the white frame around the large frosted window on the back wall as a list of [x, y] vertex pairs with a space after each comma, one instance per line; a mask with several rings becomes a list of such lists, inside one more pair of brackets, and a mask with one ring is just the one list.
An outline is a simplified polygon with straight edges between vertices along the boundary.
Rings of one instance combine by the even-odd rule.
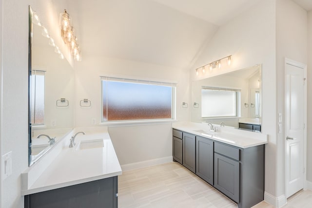
[[[160, 86], [168, 86], [172, 87], [172, 95], [171, 95], [171, 118], [155, 118], [155, 119], [131, 119], [131, 120], [103, 120], [103, 80], [107, 78], [111, 81], [118, 81], [118, 82], [130, 82], [130, 83], [137, 83], [137, 84], [151, 84], [151, 85], [160, 85]], [[106, 80], [107, 80], [106, 79]], [[162, 81], [162, 80], [151, 80], [151, 79], [138, 79], [138, 78], [128, 78], [128, 77], [121, 77], [121, 76], [100, 76], [100, 124], [101, 125], [114, 125], [114, 124], [140, 124], [140, 123], [171, 123], [172, 121], [176, 120], [176, 82], [171, 81]]]

